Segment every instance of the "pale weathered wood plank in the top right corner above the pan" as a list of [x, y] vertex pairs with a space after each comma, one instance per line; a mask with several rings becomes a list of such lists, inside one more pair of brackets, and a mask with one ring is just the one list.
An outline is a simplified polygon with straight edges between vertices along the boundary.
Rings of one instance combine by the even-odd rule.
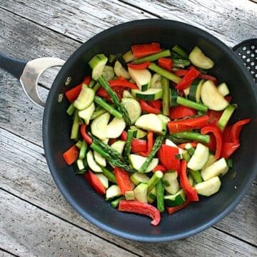
[[228, 46], [256, 38], [257, 5], [245, 0], [122, 0], [164, 19], [192, 24], [208, 31]]

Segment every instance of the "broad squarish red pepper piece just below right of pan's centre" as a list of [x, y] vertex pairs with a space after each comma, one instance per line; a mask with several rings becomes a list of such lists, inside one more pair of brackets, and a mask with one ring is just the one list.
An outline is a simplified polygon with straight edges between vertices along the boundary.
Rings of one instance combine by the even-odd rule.
[[173, 146], [162, 145], [158, 151], [158, 158], [166, 170], [180, 171], [180, 162], [176, 158], [178, 148]]

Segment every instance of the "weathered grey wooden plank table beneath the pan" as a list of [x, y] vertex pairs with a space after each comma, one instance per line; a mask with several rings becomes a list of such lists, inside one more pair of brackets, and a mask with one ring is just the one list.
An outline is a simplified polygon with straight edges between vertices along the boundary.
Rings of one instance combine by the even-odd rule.
[[[204, 29], [228, 46], [257, 36], [248, 0], [0, 0], [0, 51], [68, 59], [84, 41], [125, 21], [165, 18]], [[39, 81], [46, 98], [58, 69]], [[96, 228], [67, 203], [42, 146], [43, 109], [0, 71], [0, 256], [257, 256], [257, 183], [226, 218], [180, 241], [140, 243]]]

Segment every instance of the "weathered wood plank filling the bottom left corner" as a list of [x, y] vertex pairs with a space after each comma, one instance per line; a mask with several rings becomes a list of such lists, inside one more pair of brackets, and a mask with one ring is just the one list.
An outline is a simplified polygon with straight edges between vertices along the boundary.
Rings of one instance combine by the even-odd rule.
[[136, 256], [2, 190], [0, 203], [0, 245], [18, 256]]

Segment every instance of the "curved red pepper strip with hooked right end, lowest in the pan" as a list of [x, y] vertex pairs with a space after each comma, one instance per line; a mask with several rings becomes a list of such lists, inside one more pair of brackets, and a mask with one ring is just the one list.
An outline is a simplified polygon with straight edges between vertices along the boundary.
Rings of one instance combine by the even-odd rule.
[[146, 215], [153, 220], [151, 224], [157, 226], [161, 221], [161, 214], [157, 208], [148, 203], [141, 203], [139, 201], [121, 200], [119, 203], [119, 211], [127, 211], [131, 213], [138, 213]]

